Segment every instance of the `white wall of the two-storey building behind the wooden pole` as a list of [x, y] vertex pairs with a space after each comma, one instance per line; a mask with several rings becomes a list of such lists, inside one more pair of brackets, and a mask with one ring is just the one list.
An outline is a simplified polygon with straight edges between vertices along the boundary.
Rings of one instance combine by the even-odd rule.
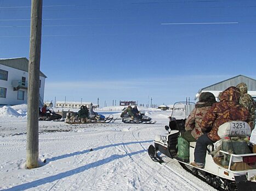
[[[7, 88], [6, 98], [0, 98], [0, 105], [18, 105], [18, 104], [26, 104], [27, 103], [27, 89], [19, 89], [20, 91], [24, 91], [24, 100], [18, 100], [18, 91], [14, 91], [14, 87], [12, 85], [13, 80], [21, 80], [21, 77], [26, 77], [26, 81], [29, 80], [29, 74], [27, 71], [22, 71], [19, 69], [7, 67], [5, 65], [0, 64], [1, 70], [8, 71], [8, 80], [0, 80], [0, 87]], [[41, 98], [44, 97], [44, 83], [45, 77], [39, 76], [41, 80], [41, 88], [39, 89], [39, 93]]]

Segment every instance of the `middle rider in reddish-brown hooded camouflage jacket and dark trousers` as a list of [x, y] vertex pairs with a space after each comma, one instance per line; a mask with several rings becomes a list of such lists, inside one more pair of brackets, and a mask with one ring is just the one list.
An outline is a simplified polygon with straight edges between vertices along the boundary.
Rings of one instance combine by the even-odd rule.
[[248, 110], [238, 103], [240, 91], [237, 87], [231, 86], [225, 89], [219, 98], [220, 102], [212, 105], [201, 123], [202, 132], [210, 131], [200, 136], [196, 141], [195, 162], [192, 162], [191, 165], [197, 168], [204, 167], [207, 145], [220, 140], [218, 135], [219, 126], [229, 121], [246, 121], [249, 116]]

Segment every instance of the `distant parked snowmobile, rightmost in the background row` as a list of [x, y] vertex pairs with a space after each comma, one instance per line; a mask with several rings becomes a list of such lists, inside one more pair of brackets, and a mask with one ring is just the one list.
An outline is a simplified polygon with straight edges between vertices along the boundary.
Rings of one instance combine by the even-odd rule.
[[156, 121], [152, 121], [152, 118], [145, 116], [145, 114], [140, 114], [138, 117], [131, 117], [128, 113], [124, 114], [122, 117], [122, 122], [124, 123], [143, 123], [143, 124], [155, 124]]

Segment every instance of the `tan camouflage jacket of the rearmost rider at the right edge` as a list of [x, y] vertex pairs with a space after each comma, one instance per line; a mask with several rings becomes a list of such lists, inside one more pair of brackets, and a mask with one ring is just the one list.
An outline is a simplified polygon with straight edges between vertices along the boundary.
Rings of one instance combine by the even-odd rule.
[[250, 114], [246, 122], [249, 124], [249, 126], [253, 130], [255, 127], [255, 102], [252, 96], [250, 96], [250, 94], [248, 93], [242, 94], [242, 96], [239, 99], [239, 103], [244, 108], [248, 109]]

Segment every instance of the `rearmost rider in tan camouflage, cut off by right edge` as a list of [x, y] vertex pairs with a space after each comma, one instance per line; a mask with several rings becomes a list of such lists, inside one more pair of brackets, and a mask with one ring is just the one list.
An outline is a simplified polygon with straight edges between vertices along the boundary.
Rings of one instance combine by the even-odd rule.
[[247, 123], [251, 127], [251, 130], [255, 127], [255, 102], [254, 99], [250, 94], [247, 93], [247, 85], [246, 83], [238, 83], [236, 86], [241, 94], [241, 97], [239, 99], [239, 104], [242, 105], [244, 108], [248, 109], [249, 116], [247, 119]]

